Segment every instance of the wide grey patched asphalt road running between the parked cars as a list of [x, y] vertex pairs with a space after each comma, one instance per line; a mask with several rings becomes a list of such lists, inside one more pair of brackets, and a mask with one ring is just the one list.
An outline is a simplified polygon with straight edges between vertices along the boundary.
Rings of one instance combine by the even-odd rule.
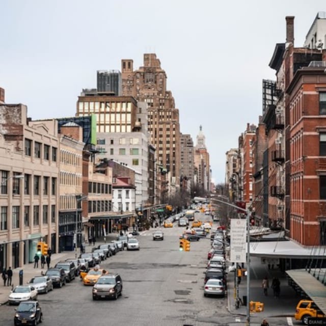
[[[176, 223], [163, 229], [163, 241], [153, 241], [152, 230], [145, 231], [138, 236], [140, 251], [125, 250], [102, 262], [101, 267], [122, 277], [123, 293], [117, 301], [93, 301], [92, 287], [77, 278], [40, 294], [43, 325], [210, 326], [237, 321], [227, 310], [227, 298], [203, 296], [210, 241], [193, 241], [190, 252], [180, 252], [178, 236], [183, 229]], [[13, 324], [14, 309], [0, 307], [0, 325]], [[288, 323], [280, 318], [269, 324]]]

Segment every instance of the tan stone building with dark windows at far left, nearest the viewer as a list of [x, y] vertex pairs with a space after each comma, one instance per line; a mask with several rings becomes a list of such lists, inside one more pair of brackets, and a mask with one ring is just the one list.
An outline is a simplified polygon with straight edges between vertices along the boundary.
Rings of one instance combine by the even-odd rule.
[[33, 261], [40, 240], [58, 250], [59, 141], [25, 105], [2, 104], [0, 117], [0, 267], [15, 268]]

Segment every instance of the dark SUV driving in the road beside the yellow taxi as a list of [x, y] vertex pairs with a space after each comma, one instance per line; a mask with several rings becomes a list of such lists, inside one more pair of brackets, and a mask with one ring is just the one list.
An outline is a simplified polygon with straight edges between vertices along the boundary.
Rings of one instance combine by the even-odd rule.
[[93, 300], [113, 297], [117, 300], [122, 294], [122, 280], [119, 274], [101, 276], [93, 287]]

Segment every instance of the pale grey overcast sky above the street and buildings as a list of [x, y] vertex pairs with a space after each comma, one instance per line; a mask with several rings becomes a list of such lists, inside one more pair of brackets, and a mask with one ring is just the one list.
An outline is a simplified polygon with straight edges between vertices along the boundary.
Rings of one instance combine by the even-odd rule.
[[180, 112], [180, 129], [196, 142], [203, 126], [212, 177], [223, 182], [225, 153], [247, 122], [262, 114], [262, 79], [285, 16], [295, 16], [302, 46], [326, 2], [303, 0], [2, 0], [0, 87], [7, 103], [28, 105], [32, 119], [74, 116], [96, 70], [121, 70], [121, 59], [155, 52]]

